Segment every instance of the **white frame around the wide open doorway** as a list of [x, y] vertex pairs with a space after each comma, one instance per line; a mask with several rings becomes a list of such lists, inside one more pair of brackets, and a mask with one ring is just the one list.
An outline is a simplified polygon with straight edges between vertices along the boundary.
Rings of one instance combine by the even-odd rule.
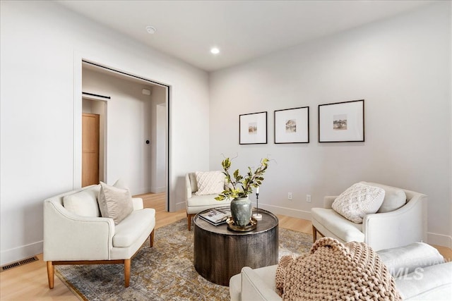
[[[74, 54], [74, 63], [73, 63], [73, 73], [74, 73], [74, 88], [73, 88], [73, 190], [81, 188], [81, 175], [82, 175], [82, 66], [83, 63], [90, 63], [93, 66], [97, 66], [99, 68], [104, 68], [106, 70], [111, 71], [112, 73], [117, 73], [125, 76], [129, 76], [131, 78], [137, 78], [139, 80], [144, 80], [146, 82], [150, 82], [153, 85], [159, 85], [160, 87], [165, 87], [166, 93], [166, 108], [167, 108], [167, 131], [166, 131], [166, 149], [167, 149], [167, 172], [166, 176], [166, 209], [167, 211], [172, 211], [175, 209], [176, 205], [169, 202], [171, 196], [171, 188], [172, 188], [172, 171], [171, 171], [171, 99], [172, 99], [172, 86], [167, 85], [162, 82], [156, 82], [155, 80], [149, 80], [140, 75], [134, 75], [133, 73], [126, 73], [124, 71], [118, 70], [117, 68], [111, 68], [104, 63], [98, 63], [95, 60], [85, 59], [84, 56]], [[108, 166], [105, 166], [108, 168]], [[106, 180], [106, 179], [105, 179]]]

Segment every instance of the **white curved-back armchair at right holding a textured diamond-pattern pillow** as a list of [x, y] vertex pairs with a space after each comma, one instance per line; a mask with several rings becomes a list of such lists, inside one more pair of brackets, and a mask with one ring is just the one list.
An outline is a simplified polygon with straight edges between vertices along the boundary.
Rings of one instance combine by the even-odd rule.
[[332, 209], [337, 196], [325, 197], [323, 208], [311, 209], [314, 242], [317, 233], [342, 243], [365, 242], [374, 250], [427, 241], [427, 195], [378, 183], [366, 184], [383, 188], [385, 198], [390, 197], [391, 192], [402, 190], [406, 195], [406, 204], [393, 211], [367, 214], [362, 223], [354, 223]]

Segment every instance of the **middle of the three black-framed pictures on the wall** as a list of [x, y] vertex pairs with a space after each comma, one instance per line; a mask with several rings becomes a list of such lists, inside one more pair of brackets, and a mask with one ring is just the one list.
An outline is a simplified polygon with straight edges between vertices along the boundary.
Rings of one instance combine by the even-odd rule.
[[275, 144], [309, 143], [309, 106], [275, 111]]

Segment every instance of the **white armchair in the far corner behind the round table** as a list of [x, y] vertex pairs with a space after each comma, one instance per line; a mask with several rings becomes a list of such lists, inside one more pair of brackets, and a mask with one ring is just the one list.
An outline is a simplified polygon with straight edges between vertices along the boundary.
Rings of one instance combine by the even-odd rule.
[[186, 219], [189, 231], [191, 231], [191, 220], [193, 217], [201, 211], [206, 209], [212, 209], [215, 207], [229, 206], [231, 201], [225, 199], [223, 201], [217, 201], [215, 195], [196, 195], [198, 191], [198, 185], [196, 183], [196, 174], [187, 173], [185, 175], [185, 204], [186, 204]]

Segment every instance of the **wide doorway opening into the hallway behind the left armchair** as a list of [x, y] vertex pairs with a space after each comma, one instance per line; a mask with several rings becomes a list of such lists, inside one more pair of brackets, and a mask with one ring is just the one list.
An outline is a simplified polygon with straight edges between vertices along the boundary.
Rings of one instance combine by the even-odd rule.
[[[169, 211], [169, 86], [84, 59], [81, 81], [82, 111], [76, 118], [99, 116], [98, 165], [93, 164], [98, 180], [125, 179], [133, 195], [166, 192]], [[83, 161], [93, 162], [95, 154], [83, 147], [81, 123], [83, 178]], [[83, 157], [87, 150], [89, 159]]]

